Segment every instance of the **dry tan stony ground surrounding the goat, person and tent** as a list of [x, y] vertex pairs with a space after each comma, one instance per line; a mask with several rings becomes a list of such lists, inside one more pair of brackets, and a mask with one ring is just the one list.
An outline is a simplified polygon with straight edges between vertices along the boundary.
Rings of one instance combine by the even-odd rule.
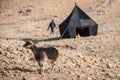
[[[59, 40], [74, 3], [98, 23], [98, 35]], [[0, 80], [120, 80], [119, 0], [0, 0]], [[57, 28], [47, 27], [54, 19]], [[24, 40], [59, 51], [55, 70], [39, 66]], [[59, 70], [60, 67], [60, 70]]]

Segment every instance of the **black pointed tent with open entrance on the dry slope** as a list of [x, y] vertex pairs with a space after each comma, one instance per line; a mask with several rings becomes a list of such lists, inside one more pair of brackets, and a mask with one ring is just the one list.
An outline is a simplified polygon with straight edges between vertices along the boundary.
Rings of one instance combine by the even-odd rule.
[[97, 35], [98, 24], [85, 14], [77, 5], [71, 14], [59, 25], [60, 38], [75, 38], [80, 36]]

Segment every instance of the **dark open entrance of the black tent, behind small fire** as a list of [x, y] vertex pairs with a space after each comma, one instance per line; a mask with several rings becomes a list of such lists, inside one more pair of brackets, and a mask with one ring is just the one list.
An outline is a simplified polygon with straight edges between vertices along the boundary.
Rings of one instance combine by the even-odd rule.
[[77, 35], [80, 35], [80, 36], [90, 36], [89, 27], [86, 27], [86, 28], [76, 27], [76, 36]]

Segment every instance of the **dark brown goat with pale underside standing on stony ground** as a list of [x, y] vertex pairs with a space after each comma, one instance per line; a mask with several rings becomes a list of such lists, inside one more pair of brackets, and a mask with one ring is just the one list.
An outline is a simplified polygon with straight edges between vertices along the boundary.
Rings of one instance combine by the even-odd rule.
[[44, 73], [44, 67], [46, 60], [51, 61], [52, 68], [51, 71], [53, 71], [54, 62], [57, 60], [59, 53], [58, 50], [54, 47], [37, 47], [32, 41], [26, 41], [26, 43], [23, 45], [24, 48], [31, 49], [36, 61], [38, 62], [40, 66], [40, 74]]

